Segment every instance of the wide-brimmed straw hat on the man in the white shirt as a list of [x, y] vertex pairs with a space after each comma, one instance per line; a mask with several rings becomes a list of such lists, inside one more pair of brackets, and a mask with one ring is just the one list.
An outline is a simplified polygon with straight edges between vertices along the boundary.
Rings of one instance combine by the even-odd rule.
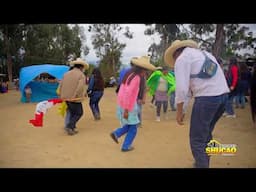
[[164, 61], [166, 64], [170, 65], [171, 67], [174, 66], [173, 53], [181, 47], [198, 48], [198, 44], [193, 40], [175, 40], [164, 53]]

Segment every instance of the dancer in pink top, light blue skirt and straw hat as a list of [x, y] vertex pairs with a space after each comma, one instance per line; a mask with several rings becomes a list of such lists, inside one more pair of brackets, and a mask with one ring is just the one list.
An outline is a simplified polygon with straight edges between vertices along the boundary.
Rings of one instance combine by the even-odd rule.
[[137, 98], [145, 90], [146, 71], [155, 70], [149, 59], [148, 56], [131, 59], [131, 70], [125, 74], [118, 91], [117, 114], [122, 127], [113, 131], [110, 136], [118, 143], [118, 138], [127, 133], [121, 148], [123, 152], [133, 150], [132, 142], [137, 133], [137, 125], [140, 123]]

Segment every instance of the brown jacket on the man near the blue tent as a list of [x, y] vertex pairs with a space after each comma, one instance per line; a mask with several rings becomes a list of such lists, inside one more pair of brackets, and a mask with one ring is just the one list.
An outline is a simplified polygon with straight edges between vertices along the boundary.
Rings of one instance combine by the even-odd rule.
[[64, 74], [60, 83], [60, 98], [81, 98], [74, 102], [82, 102], [85, 95], [85, 75], [79, 69], [74, 68]]

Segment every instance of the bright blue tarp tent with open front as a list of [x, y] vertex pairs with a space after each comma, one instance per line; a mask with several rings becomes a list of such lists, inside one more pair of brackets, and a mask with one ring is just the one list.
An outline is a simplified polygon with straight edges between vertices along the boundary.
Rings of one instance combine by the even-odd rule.
[[26, 101], [25, 97], [25, 87], [28, 85], [32, 90], [31, 102], [40, 102], [52, 98], [57, 98], [56, 89], [58, 83], [48, 83], [48, 82], [39, 82], [33, 81], [35, 77], [41, 73], [48, 73], [54, 76], [56, 79], [61, 80], [64, 73], [69, 70], [69, 67], [66, 65], [32, 65], [28, 67], [21, 68], [20, 71], [20, 92], [21, 92], [21, 102]]

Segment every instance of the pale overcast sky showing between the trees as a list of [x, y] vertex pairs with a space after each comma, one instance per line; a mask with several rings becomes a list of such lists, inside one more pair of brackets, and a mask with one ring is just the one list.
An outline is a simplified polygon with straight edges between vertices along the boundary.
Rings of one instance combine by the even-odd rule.
[[[243, 24], [249, 26], [256, 36], [256, 24]], [[91, 44], [91, 33], [88, 32], [89, 24], [82, 24], [84, 26], [86, 33], [86, 45], [90, 48], [90, 52], [84, 58], [87, 62], [96, 62], [99, 59], [96, 57], [94, 49]], [[144, 31], [147, 28], [144, 24], [121, 24], [123, 28], [128, 26], [130, 31], [133, 32], [133, 39], [128, 39], [120, 36], [120, 42], [126, 43], [126, 47], [124, 48], [121, 62], [122, 64], [128, 64], [132, 57], [142, 56], [148, 54], [149, 46], [155, 42], [159, 43], [160, 38], [157, 34], [148, 36], [144, 35]]]

